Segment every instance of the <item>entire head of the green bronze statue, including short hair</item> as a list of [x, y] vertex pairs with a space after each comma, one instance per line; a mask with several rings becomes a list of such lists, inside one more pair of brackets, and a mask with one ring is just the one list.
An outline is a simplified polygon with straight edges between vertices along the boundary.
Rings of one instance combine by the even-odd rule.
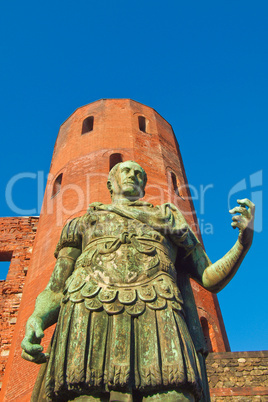
[[108, 176], [107, 187], [112, 201], [138, 200], [144, 197], [147, 175], [145, 170], [134, 161], [117, 163]]

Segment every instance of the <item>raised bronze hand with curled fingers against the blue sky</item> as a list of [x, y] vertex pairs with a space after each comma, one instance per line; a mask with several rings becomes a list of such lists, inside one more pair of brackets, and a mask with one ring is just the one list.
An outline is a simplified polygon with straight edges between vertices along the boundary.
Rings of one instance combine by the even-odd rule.
[[234, 207], [229, 212], [230, 214], [238, 213], [240, 215], [232, 217], [233, 222], [231, 225], [234, 229], [239, 229], [238, 241], [243, 247], [249, 248], [253, 239], [255, 205], [247, 198], [237, 200], [237, 202], [240, 206]]

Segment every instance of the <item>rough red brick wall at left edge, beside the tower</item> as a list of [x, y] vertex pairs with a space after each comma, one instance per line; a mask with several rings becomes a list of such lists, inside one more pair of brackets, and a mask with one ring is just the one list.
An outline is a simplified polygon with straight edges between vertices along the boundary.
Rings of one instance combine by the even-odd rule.
[[10, 261], [6, 280], [0, 281], [0, 385], [33, 250], [38, 218], [0, 218], [0, 261]]

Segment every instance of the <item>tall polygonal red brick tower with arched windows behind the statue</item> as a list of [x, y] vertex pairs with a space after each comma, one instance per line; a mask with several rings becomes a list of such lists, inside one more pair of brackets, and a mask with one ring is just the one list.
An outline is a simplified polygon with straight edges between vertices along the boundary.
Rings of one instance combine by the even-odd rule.
[[[91, 202], [110, 203], [109, 170], [134, 160], [147, 172], [145, 200], [172, 202], [198, 235], [198, 224], [172, 127], [155, 110], [130, 99], [102, 99], [77, 109], [61, 126], [3, 380], [3, 400], [29, 401], [39, 367], [20, 358], [26, 320], [46, 286], [63, 225]], [[200, 236], [199, 236], [200, 237]], [[201, 240], [201, 239], [200, 239]], [[192, 283], [210, 351], [229, 350], [218, 301]], [[53, 328], [46, 331], [48, 345]]]

